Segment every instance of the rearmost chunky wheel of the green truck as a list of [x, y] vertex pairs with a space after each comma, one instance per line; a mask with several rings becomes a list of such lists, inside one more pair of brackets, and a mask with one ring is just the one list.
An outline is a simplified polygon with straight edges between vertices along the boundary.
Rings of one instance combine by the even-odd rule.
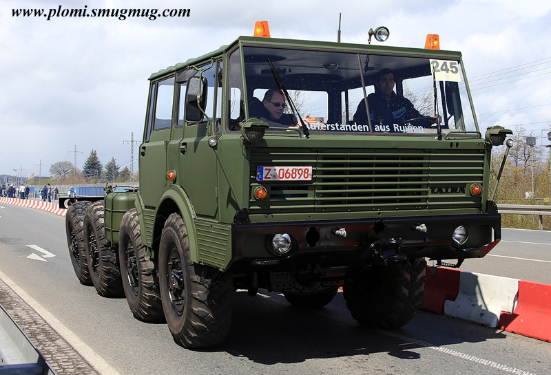
[[81, 284], [92, 286], [92, 279], [90, 279], [90, 271], [88, 270], [84, 250], [84, 214], [88, 206], [90, 206], [90, 202], [83, 200], [71, 204], [67, 208], [65, 231], [67, 233], [67, 246], [69, 246], [69, 255], [74, 273]]

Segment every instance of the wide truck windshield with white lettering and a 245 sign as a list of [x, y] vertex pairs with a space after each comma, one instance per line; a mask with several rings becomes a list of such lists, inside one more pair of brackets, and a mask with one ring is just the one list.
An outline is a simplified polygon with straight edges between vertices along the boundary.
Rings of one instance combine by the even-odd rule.
[[273, 47], [243, 54], [249, 118], [271, 131], [300, 118], [311, 133], [477, 131], [459, 60]]

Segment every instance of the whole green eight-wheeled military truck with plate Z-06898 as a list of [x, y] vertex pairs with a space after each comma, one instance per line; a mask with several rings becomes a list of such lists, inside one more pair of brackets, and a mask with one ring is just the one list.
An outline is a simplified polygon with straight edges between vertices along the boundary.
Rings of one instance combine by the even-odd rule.
[[[367, 116], [384, 68], [415, 118]], [[81, 283], [183, 347], [225, 339], [236, 290], [322, 308], [342, 287], [358, 323], [400, 327], [426, 258], [501, 238], [490, 156], [511, 131], [481, 133], [459, 52], [240, 36], [149, 81], [139, 189], [70, 199], [67, 242]]]

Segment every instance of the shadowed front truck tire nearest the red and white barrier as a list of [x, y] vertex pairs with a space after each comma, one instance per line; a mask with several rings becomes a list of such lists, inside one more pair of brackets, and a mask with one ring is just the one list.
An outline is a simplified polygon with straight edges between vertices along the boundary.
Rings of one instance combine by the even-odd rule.
[[358, 323], [376, 330], [406, 325], [421, 303], [426, 281], [424, 258], [372, 266], [344, 281], [346, 307]]

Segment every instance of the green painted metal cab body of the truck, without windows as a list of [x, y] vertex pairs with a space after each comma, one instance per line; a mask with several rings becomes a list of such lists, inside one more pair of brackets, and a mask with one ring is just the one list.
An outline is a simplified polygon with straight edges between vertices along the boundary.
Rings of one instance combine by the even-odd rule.
[[[435, 226], [437, 222], [446, 221], [446, 217], [450, 217], [453, 224], [448, 226], [453, 226], [461, 222], [461, 217], [465, 218], [464, 223], [468, 223], [468, 217], [472, 216], [473, 222], [476, 222], [472, 226], [472, 246], [479, 248], [492, 243], [492, 231], [499, 232], [499, 224], [496, 226], [495, 217], [492, 217], [492, 224], [484, 224], [491, 145], [481, 137], [474, 111], [474, 129], [446, 131], [440, 140], [426, 134], [403, 136], [395, 133], [346, 131], [318, 131], [312, 132], [310, 138], [304, 138], [299, 131], [289, 130], [268, 131], [262, 140], [248, 142], [241, 131], [231, 129], [231, 111], [235, 110], [231, 103], [238, 90], [231, 86], [229, 79], [241, 74], [244, 78], [242, 87], [245, 87], [241, 90], [247, 92], [255, 84], [253, 80], [258, 78], [260, 82], [261, 75], [266, 72], [259, 70], [257, 76], [249, 72], [247, 64], [253, 61], [251, 56], [260, 56], [260, 52], [249, 56], [247, 47], [251, 51], [270, 51], [271, 48], [286, 50], [290, 55], [305, 50], [312, 56], [318, 52], [331, 52], [357, 54], [358, 59], [361, 54], [412, 61], [424, 58], [461, 63], [459, 52], [242, 36], [210, 54], [152, 74], [149, 78], [152, 85], [144, 140], [140, 147], [140, 191], [110, 193], [105, 198], [105, 228], [111, 242], [118, 242], [118, 226], [123, 213], [135, 206], [143, 242], [151, 249], [152, 257], [158, 246], [164, 220], [171, 213], [177, 212], [187, 227], [192, 260], [222, 270], [238, 258], [273, 258], [273, 254], [267, 250], [267, 237], [280, 233], [282, 228], [298, 233], [298, 237], [300, 231], [315, 228], [322, 239], [319, 242], [310, 241], [306, 246], [305, 240], [299, 238], [298, 252], [304, 248], [305, 252], [323, 253], [325, 250], [340, 248], [365, 248], [368, 244], [362, 242], [360, 237], [368, 228], [375, 228], [377, 222], [397, 223], [388, 224], [386, 228], [388, 231], [395, 228], [393, 235], [410, 238], [408, 234], [400, 236], [399, 231], [404, 231], [410, 223], [417, 223], [417, 217], [435, 222]], [[287, 61], [291, 59], [289, 57]], [[280, 63], [283, 66], [285, 57], [280, 61], [283, 61]], [[214, 103], [216, 114], [199, 124], [183, 121], [180, 112], [185, 87], [176, 84], [171, 94], [173, 105], [169, 109], [168, 126], [161, 126], [158, 117], [160, 105], [156, 103], [160, 103], [163, 85], [190, 68], [199, 72], [196, 74], [203, 74], [201, 68], [205, 67], [207, 76], [210, 74], [210, 70], [207, 70], [209, 66], [218, 69], [218, 91], [214, 89], [217, 92], [217, 103]], [[333, 67], [327, 65], [326, 69]], [[367, 63], [365, 69], [369, 74]], [[284, 67], [283, 72], [291, 76], [291, 68]], [[271, 76], [272, 73], [268, 70], [267, 75]], [[463, 103], [464, 110], [471, 111], [472, 99], [466, 75], [462, 78], [468, 97]], [[214, 76], [207, 76], [207, 79], [211, 83]], [[366, 75], [366, 79], [373, 84], [373, 76]], [[341, 97], [344, 97], [340, 94], [337, 96], [335, 92], [328, 89], [330, 118], [332, 113], [339, 110], [337, 105], [331, 104], [332, 95], [337, 100], [343, 100]], [[246, 96], [242, 99], [240, 120], [251, 117], [251, 95]], [[155, 129], [157, 123], [158, 129]], [[216, 145], [209, 144], [212, 140], [216, 141]], [[313, 179], [286, 183], [258, 181], [258, 167], [271, 165], [311, 166]], [[174, 180], [167, 178], [169, 171], [174, 171]], [[483, 193], [470, 194], [472, 184], [481, 185]], [[257, 186], [267, 189], [269, 199], [257, 200], [254, 197]], [[274, 193], [276, 189], [278, 193]], [[248, 215], [242, 222], [236, 214], [245, 209]], [[342, 242], [332, 237], [324, 244], [323, 238], [331, 237], [331, 228], [340, 227], [343, 223], [356, 228], [355, 237], [347, 237]], [[366, 229], [362, 230], [362, 226]], [[251, 231], [250, 236], [247, 235], [247, 228]], [[433, 231], [436, 231], [436, 227]], [[379, 232], [378, 237], [371, 234], [367, 237], [388, 237], [384, 231]], [[433, 236], [439, 238], [436, 233]], [[423, 241], [426, 244], [424, 247]], [[442, 251], [446, 257], [455, 258], [484, 256], [487, 253], [461, 255], [459, 250], [457, 254], [454, 253], [451, 246], [448, 246], [448, 250], [438, 250], [437, 244], [430, 242], [428, 237], [419, 237], [419, 240], [411, 237], [410, 242], [412, 251], [417, 251], [415, 256], [438, 258], [438, 251]]]

